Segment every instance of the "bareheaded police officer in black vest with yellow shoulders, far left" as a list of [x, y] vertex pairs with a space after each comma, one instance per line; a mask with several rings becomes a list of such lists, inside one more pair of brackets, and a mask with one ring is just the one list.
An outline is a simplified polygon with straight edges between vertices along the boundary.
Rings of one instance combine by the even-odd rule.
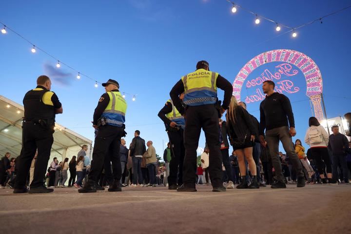
[[38, 194], [54, 191], [45, 187], [43, 178], [54, 142], [55, 115], [62, 114], [63, 110], [57, 95], [50, 91], [51, 80], [49, 77], [40, 76], [37, 79], [37, 85], [37, 88], [28, 91], [23, 98], [23, 142], [20, 156], [16, 162], [15, 194], [27, 192], [25, 184], [37, 149], [38, 157], [29, 193]]

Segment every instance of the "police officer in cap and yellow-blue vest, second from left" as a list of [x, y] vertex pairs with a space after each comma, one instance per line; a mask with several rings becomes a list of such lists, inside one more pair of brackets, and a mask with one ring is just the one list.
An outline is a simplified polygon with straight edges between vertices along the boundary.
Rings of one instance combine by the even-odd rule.
[[79, 193], [95, 193], [96, 183], [104, 166], [106, 154], [109, 154], [112, 162], [113, 183], [109, 185], [109, 192], [122, 191], [120, 178], [122, 174], [119, 146], [120, 139], [125, 136], [124, 122], [127, 111], [127, 103], [118, 91], [119, 84], [116, 80], [109, 79], [102, 83], [106, 93], [103, 94], [94, 112], [93, 127], [98, 129], [95, 138], [93, 161], [90, 168], [88, 181]]

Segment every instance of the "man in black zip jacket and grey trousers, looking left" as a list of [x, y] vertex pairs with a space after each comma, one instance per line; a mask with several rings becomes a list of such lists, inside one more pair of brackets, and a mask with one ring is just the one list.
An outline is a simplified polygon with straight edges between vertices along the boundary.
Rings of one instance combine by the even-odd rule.
[[[266, 94], [260, 104], [260, 141], [264, 145], [266, 129], [266, 141], [270, 149], [272, 163], [277, 182], [272, 184], [273, 189], [286, 188], [282, 167], [279, 160], [279, 140], [292, 162], [297, 174], [297, 187], [305, 186], [305, 177], [301, 162], [295, 153], [292, 137], [296, 135], [295, 122], [290, 100], [285, 95], [274, 92], [275, 84], [272, 80], [263, 82], [263, 92]], [[290, 126], [290, 129], [289, 129]]]

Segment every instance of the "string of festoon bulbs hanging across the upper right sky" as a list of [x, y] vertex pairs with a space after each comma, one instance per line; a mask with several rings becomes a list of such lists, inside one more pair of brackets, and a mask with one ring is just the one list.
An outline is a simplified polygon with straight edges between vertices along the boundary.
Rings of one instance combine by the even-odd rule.
[[255, 18], [254, 18], [254, 19], [255, 19], [255, 21], [254, 21], [255, 24], [259, 24], [259, 23], [260, 23], [260, 19], [267, 20], [267, 21], [269, 21], [269, 22], [274, 23], [274, 25], [275, 25], [275, 31], [277, 31], [277, 32], [279, 32], [279, 31], [281, 30], [282, 27], [283, 27], [283, 28], [289, 29], [289, 31], [287, 31], [287, 32], [285, 32], [285, 33], [292, 32], [292, 37], [293, 37], [293, 38], [296, 38], [296, 37], [297, 37], [297, 29], [302, 28], [302, 27], [305, 27], [305, 26], [307, 26], [307, 25], [310, 25], [310, 24], [312, 24], [312, 23], [314, 23], [314, 22], [318, 22], [318, 21], [320, 21], [320, 23], [323, 23], [323, 19], [324, 19], [324, 18], [327, 18], [328, 16], [337, 14], [337, 13], [339, 13], [339, 12], [341, 12], [341, 11], [344, 11], [344, 10], [346, 10], [346, 9], [348, 9], [348, 8], [351, 8], [351, 5], [349, 5], [349, 6], [347, 6], [347, 7], [344, 7], [344, 8], [342, 8], [342, 9], [340, 9], [340, 10], [331, 12], [331, 13], [328, 14], [328, 15], [321, 16], [321, 17], [319, 17], [319, 18], [317, 18], [317, 19], [315, 19], [315, 20], [312, 20], [312, 21], [310, 21], [310, 22], [301, 24], [301, 25], [296, 26], [296, 27], [290, 27], [290, 26], [288, 26], [288, 25], [285, 25], [285, 24], [282, 24], [282, 23], [278, 23], [277, 21], [272, 20], [272, 19], [269, 19], [269, 18], [264, 17], [264, 16], [262, 16], [262, 15], [258, 15], [257, 13], [255, 13], [255, 12], [253, 12], [253, 11], [247, 9], [247, 8], [244, 8], [244, 7], [240, 6], [240, 5], [238, 5], [238, 4], [236, 4], [235, 2], [233, 2], [233, 1], [231, 1], [231, 0], [226, 0], [226, 1], [228, 1], [229, 3], [231, 3], [231, 4], [233, 5], [233, 6], [232, 6], [232, 13], [237, 12], [238, 8], [240, 8], [240, 9], [242, 9], [242, 10], [244, 10], [244, 11], [246, 11], [246, 12], [252, 14], [252, 15], [254, 15], [254, 17], [255, 17]]

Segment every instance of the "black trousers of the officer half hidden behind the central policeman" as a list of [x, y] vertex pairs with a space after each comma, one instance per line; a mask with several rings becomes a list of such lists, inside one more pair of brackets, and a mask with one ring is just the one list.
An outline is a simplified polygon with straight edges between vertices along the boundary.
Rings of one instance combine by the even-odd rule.
[[170, 161], [170, 175], [168, 176], [168, 184], [174, 185], [178, 182], [178, 184], [181, 185], [183, 184], [183, 162], [185, 155], [184, 131], [183, 129], [179, 129], [176, 132], [168, 132], [168, 137], [172, 143], [173, 148], [173, 154], [171, 155], [172, 159]]

